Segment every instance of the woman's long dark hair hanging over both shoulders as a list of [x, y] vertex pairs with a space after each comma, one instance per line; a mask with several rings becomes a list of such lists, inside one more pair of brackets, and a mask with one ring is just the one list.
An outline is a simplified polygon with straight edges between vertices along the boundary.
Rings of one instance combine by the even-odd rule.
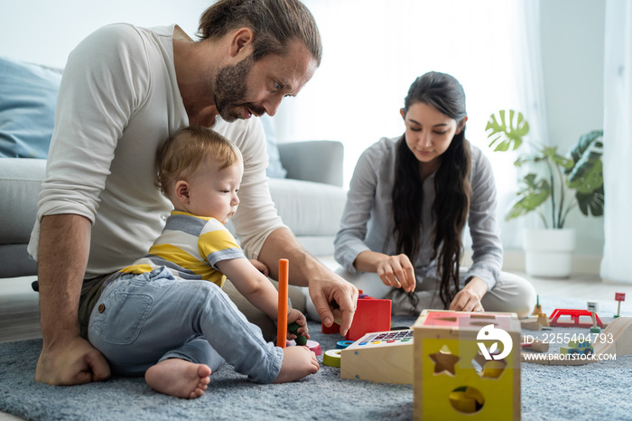
[[[432, 71], [414, 81], [404, 99], [404, 115], [417, 102], [436, 108], [455, 119], [457, 124], [467, 116], [463, 87], [458, 80], [445, 73]], [[432, 220], [435, 222], [432, 259], [438, 254], [440, 296], [446, 308], [459, 291], [459, 262], [463, 248], [461, 234], [468, 218], [471, 195], [470, 170], [469, 143], [465, 140], [463, 126], [441, 155], [441, 165], [434, 178], [436, 197], [432, 204]], [[419, 161], [406, 144], [405, 134], [397, 145], [392, 197], [393, 238], [397, 253], [404, 253], [414, 261], [419, 253], [423, 229], [423, 184]], [[414, 300], [416, 295], [411, 295], [411, 298]]]

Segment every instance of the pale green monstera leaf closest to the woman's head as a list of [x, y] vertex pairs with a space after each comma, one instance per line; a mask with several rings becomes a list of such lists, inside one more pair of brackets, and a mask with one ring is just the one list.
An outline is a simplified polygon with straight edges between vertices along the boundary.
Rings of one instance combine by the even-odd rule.
[[489, 147], [497, 143], [495, 151], [507, 151], [512, 144], [512, 150], [516, 150], [522, 145], [522, 138], [529, 133], [529, 123], [520, 112], [510, 109], [507, 116], [507, 112], [501, 110], [489, 117], [485, 132], [491, 140]]

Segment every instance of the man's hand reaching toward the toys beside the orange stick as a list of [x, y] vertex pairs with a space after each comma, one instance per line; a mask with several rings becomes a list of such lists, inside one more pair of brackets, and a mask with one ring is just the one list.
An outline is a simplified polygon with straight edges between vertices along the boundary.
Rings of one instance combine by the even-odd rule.
[[327, 277], [310, 281], [310, 297], [321, 316], [322, 323], [330, 327], [334, 321], [340, 324], [340, 334], [345, 335], [353, 322], [358, 301], [358, 288], [342, 277], [329, 272]]

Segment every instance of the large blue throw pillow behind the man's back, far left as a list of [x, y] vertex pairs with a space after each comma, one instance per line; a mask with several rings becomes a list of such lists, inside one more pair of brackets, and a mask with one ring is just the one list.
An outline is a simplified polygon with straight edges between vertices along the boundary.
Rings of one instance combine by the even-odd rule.
[[0, 156], [48, 156], [61, 72], [0, 57]]

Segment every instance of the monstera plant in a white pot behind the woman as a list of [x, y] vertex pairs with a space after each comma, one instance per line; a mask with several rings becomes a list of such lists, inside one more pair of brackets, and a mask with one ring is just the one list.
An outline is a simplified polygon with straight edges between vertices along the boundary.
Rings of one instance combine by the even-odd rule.
[[495, 151], [530, 146], [530, 151], [520, 154], [514, 163], [527, 171], [519, 180], [516, 199], [506, 216], [506, 220], [512, 220], [537, 212], [544, 222], [544, 229], [525, 230], [526, 273], [569, 276], [575, 232], [564, 228], [568, 214], [579, 208], [586, 216], [603, 215], [603, 131], [593, 130], [580, 136], [569, 153], [562, 156], [557, 146], [525, 140], [529, 124], [520, 112], [501, 110], [492, 114], [485, 130], [489, 147]]

